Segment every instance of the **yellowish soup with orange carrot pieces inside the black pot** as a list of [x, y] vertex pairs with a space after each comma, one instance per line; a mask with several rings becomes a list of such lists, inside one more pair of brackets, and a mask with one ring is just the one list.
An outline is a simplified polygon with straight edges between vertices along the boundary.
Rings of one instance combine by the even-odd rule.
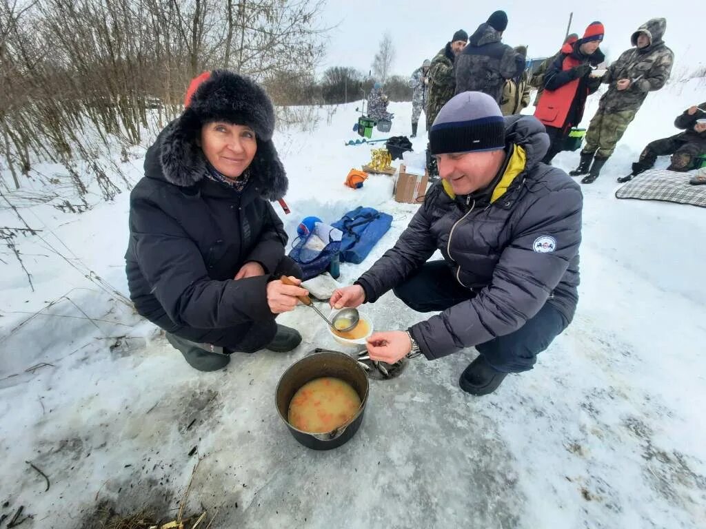
[[298, 430], [323, 434], [351, 420], [360, 403], [357, 391], [347, 382], [333, 377], [317, 378], [294, 394], [287, 421]]

